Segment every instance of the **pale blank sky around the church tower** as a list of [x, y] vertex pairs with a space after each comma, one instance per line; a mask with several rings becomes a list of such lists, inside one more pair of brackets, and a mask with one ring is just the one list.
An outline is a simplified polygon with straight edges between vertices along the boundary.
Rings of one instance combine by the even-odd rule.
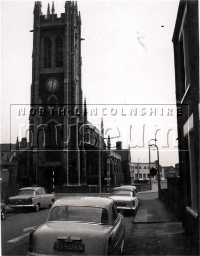
[[[48, 2], [52, 6], [42, 1], [43, 14]], [[54, 3], [60, 16], [65, 2]], [[103, 117], [105, 137], [110, 134], [113, 146], [118, 140], [122, 148], [130, 146], [132, 162], [148, 162], [148, 141], [155, 138], [160, 164], [179, 162], [171, 41], [178, 6], [179, 1], [78, 1], [88, 121], [99, 129]], [[33, 8], [33, 1], [1, 1], [1, 143], [15, 143], [19, 125], [29, 123], [13, 104], [30, 104]], [[156, 159], [157, 151], [151, 151]]]

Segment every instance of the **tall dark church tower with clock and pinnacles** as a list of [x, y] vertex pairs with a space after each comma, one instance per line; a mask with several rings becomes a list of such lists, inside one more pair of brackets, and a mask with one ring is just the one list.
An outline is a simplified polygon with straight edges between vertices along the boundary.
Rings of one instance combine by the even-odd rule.
[[[78, 127], [83, 116], [81, 87], [81, 14], [77, 2], [66, 1], [57, 17], [54, 2], [46, 15], [35, 2], [30, 111], [31, 183], [81, 185]], [[83, 154], [83, 155], [81, 155]]]

